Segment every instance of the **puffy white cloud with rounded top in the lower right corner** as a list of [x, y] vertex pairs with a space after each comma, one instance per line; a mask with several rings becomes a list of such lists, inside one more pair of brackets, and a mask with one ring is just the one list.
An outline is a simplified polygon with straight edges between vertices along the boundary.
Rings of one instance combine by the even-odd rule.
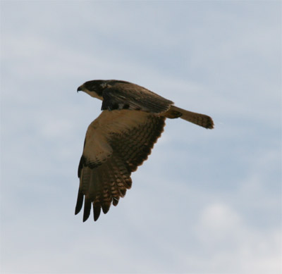
[[[260, 231], [246, 224], [227, 204], [209, 204], [196, 225], [197, 237], [209, 247], [204, 261], [212, 272], [280, 273], [282, 234], [278, 228]], [[206, 265], [206, 266], [207, 266]]]

